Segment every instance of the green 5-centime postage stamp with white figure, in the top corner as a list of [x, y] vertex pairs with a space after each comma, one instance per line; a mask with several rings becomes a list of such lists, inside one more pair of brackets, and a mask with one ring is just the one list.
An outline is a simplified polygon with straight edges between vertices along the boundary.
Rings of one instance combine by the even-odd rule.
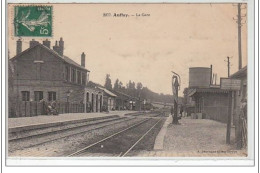
[[52, 36], [52, 6], [15, 6], [15, 36]]

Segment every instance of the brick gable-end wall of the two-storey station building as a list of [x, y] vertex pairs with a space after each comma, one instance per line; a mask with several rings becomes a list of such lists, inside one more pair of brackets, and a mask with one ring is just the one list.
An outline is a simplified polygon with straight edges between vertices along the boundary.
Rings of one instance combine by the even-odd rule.
[[48, 92], [53, 91], [59, 101], [68, 98], [70, 102], [83, 103], [85, 85], [66, 82], [64, 72], [68, 64], [46, 48], [39, 45], [28, 49], [12, 61], [16, 98], [21, 100], [21, 91], [30, 91], [30, 100], [34, 100], [34, 91], [43, 91], [43, 98], [47, 100]]

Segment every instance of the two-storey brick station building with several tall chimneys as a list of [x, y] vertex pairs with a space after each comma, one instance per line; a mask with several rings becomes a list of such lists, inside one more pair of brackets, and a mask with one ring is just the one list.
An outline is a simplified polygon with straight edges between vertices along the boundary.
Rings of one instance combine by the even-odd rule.
[[84, 52], [81, 54], [79, 65], [63, 52], [62, 38], [55, 42], [53, 49], [49, 40], [42, 44], [31, 40], [30, 47], [24, 51], [22, 41], [17, 41], [17, 55], [10, 59], [14, 65], [16, 100], [80, 103], [84, 104], [84, 112], [87, 111], [88, 100], [92, 100], [91, 111], [100, 111], [102, 92], [86, 86], [90, 72], [85, 68], [86, 55]]

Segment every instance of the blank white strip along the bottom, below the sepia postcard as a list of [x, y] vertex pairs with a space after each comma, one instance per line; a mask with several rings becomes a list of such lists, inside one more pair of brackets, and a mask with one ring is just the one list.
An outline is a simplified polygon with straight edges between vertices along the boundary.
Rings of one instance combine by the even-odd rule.
[[45, 159], [8, 159], [8, 166], [22, 165], [58, 165], [58, 166], [254, 166], [253, 160], [233, 159], [219, 160], [219, 158], [50, 158]]

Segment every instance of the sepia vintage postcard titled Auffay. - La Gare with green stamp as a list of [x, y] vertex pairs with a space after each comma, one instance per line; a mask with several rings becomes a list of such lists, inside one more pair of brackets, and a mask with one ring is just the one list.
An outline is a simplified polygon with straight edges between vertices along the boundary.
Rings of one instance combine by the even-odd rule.
[[253, 157], [247, 2], [7, 7], [8, 159]]

